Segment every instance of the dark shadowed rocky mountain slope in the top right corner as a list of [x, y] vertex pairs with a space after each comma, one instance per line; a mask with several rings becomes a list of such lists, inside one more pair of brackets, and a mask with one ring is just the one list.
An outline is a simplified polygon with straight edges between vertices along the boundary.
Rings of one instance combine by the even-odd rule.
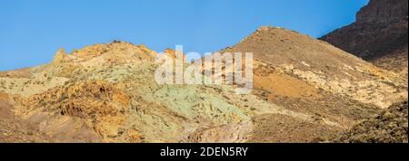
[[407, 77], [407, 24], [407, 0], [371, 0], [356, 14], [354, 24], [321, 39]]

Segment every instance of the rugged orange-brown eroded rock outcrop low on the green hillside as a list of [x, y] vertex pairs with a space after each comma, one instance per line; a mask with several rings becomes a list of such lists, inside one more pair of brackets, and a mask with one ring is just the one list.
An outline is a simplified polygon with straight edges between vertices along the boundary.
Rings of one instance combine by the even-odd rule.
[[120, 141], [115, 136], [118, 128], [125, 126], [130, 98], [104, 81], [87, 81], [68, 83], [17, 102], [21, 104], [15, 113], [51, 136], [85, 135], [86, 142], [99, 138], [110, 142]]

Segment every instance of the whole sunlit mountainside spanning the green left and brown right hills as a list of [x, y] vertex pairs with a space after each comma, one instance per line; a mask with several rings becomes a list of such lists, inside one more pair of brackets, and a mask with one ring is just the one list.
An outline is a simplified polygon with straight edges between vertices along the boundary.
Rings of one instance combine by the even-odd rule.
[[398, 74], [289, 30], [262, 27], [223, 52], [254, 52], [253, 93], [158, 85], [158, 53], [122, 42], [0, 72], [2, 110], [30, 125], [0, 142], [314, 142], [407, 99]]

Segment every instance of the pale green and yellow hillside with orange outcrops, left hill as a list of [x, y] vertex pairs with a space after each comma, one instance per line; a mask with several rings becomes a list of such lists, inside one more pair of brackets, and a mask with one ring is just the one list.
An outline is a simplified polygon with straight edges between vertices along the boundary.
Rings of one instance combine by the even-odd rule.
[[263, 114], [313, 121], [254, 95], [236, 95], [232, 86], [157, 85], [155, 54], [118, 42], [59, 50], [49, 64], [3, 72], [0, 90], [17, 118], [55, 142], [205, 142], [217, 136], [201, 131], [222, 127], [234, 135], [224, 126], [251, 124]]

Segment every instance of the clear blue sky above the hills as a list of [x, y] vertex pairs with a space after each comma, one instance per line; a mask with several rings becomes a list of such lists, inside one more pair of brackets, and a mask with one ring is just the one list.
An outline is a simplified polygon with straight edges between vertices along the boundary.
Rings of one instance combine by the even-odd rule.
[[2, 0], [0, 71], [50, 62], [94, 43], [214, 52], [263, 25], [313, 37], [354, 22], [368, 0]]

